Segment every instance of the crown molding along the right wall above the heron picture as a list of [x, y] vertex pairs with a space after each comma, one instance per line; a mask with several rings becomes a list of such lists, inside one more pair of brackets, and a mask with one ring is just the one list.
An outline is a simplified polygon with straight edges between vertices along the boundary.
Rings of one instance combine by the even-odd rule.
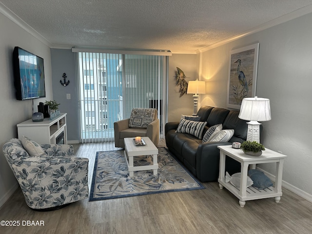
[[242, 32], [240, 34], [237, 34], [237, 35], [235, 35], [233, 37], [230, 37], [228, 39], [224, 39], [224, 40], [216, 42], [216, 43], [214, 43], [212, 45], [208, 45], [206, 47], [198, 49], [195, 52], [196, 52], [196, 54], [203, 53], [205, 51], [208, 51], [208, 50], [214, 49], [216, 47], [219, 47], [221, 45], [227, 44], [227, 43], [229, 43], [231, 41], [247, 37], [247, 36], [252, 35], [254, 33], [263, 31], [265, 29], [271, 28], [271, 27], [276, 26], [276, 25], [281, 24], [281, 23], [285, 23], [285, 22], [287, 22], [289, 20], [296, 19], [298, 17], [307, 15], [309, 13], [312, 13], [312, 5], [309, 5], [309, 6], [306, 6], [306, 7], [302, 7], [300, 9], [295, 10], [295, 11], [293, 11], [291, 13], [288, 13], [288, 14], [286, 14], [284, 16], [278, 17], [278, 18], [276, 18], [274, 20], [270, 20], [269, 22], [266, 22], [266, 23], [263, 23], [263, 24], [261, 24], [261, 25], [259, 25], [257, 27], [254, 27], [251, 30], [247, 30], [247, 31]]

